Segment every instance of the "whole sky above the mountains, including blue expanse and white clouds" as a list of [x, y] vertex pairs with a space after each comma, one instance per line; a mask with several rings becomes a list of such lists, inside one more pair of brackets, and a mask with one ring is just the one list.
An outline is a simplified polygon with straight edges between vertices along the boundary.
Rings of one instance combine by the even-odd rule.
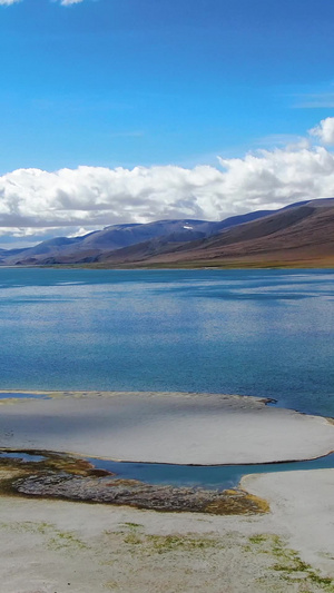
[[333, 0], [0, 0], [0, 247], [334, 196]]

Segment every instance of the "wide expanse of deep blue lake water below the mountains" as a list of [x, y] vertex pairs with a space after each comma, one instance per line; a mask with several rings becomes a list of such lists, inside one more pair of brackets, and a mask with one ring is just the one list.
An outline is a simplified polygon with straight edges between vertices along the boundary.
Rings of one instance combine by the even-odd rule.
[[0, 268], [0, 388], [238, 393], [334, 416], [334, 270]]

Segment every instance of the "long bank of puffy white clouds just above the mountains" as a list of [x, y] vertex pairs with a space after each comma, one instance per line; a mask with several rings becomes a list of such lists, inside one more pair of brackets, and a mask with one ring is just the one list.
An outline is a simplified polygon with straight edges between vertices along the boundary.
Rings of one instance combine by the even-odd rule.
[[262, 150], [219, 164], [17, 169], [0, 177], [0, 227], [21, 236], [22, 229], [70, 235], [165, 218], [218, 220], [334, 196], [334, 155], [324, 147]]

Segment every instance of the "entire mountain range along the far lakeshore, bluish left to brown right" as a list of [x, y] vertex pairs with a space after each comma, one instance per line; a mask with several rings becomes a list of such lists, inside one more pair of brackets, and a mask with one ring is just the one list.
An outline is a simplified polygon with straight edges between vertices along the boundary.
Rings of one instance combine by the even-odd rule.
[[0, 249], [0, 265], [91, 267], [332, 267], [334, 198], [222, 221], [158, 220]]

